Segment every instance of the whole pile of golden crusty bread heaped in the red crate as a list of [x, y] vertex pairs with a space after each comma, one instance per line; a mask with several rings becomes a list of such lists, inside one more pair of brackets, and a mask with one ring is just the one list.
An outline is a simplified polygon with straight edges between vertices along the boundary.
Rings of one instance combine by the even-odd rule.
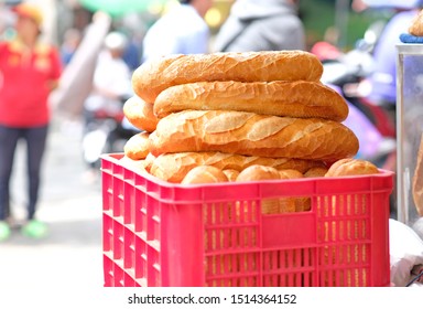
[[[324, 177], [359, 145], [341, 124], [347, 103], [319, 82], [322, 73], [318, 58], [304, 51], [171, 55], [144, 63], [132, 77], [135, 95], [123, 107], [143, 130], [128, 140], [126, 160], [174, 183]], [[359, 167], [357, 173], [368, 171]]]

